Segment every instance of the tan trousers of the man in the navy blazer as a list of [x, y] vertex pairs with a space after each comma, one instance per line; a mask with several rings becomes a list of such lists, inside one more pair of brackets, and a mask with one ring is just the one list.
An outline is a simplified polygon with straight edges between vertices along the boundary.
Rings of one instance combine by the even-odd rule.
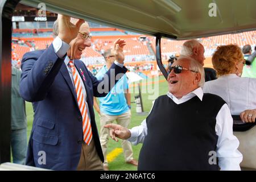
[[82, 141], [82, 149], [79, 164], [77, 166], [78, 171], [94, 170], [103, 171], [103, 164], [96, 151], [94, 140], [90, 142], [89, 146]]

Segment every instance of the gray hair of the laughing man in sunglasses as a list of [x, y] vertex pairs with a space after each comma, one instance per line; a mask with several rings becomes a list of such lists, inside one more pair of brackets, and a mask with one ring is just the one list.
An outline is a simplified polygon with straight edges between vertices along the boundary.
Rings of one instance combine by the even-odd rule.
[[181, 55], [177, 60], [184, 59], [184, 58], [190, 60], [190, 68], [189, 69], [191, 69], [192, 71], [199, 72], [201, 74], [201, 79], [200, 79], [198, 86], [203, 88], [204, 82], [205, 82], [205, 78], [204, 78], [205, 73], [204, 73], [203, 65], [201, 65], [198, 61], [196, 61], [192, 57], [184, 56], [184, 55]]

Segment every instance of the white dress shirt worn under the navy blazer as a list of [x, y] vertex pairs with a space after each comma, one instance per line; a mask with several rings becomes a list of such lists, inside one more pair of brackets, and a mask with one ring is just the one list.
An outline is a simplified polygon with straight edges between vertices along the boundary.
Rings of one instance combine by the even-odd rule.
[[[53, 40], [52, 46], [53, 46], [54, 52], [60, 58], [63, 58], [65, 56], [65, 54], [68, 52], [68, 49], [70, 47], [69, 44], [63, 42], [58, 36], [56, 36], [56, 38]], [[72, 71], [71, 71], [71, 68], [68, 65], [69, 60], [70, 60], [69, 57], [66, 56], [65, 60], [64, 60], [64, 63], [66, 65], [67, 69], [68, 69], [68, 73], [69, 73], [69, 76], [71, 78], [71, 81], [72, 81], [72, 84], [74, 86], [74, 90], [75, 90], [75, 93], [76, 93]], [[120, 64], [117, 61], [115, 61], [114, 63], [117, 64], [119, 67], [123, 67], [123, 64]], [[76, 67], [75, 67], [75, 69], [76, 69]], [[77, 69], [76, 69], [76, 71], [77, 71]], [[77, 71], [77, 73], [79, 73], [79, 71]], [[80, 77], [80, 75], [79, 75], [79, 80], [80, 80], [80, 83], [83, 83], [82, 78]], [[85, 101], [86, 109], [89, 110], [88, 103], [86, 102], [87, 94], [86, 94], [84, 84], [81, 84], [81, 87], [82, 87], [82, 94], [84, 95], [84, 101]], [[90, 112], [88, 112], [88, 116], [89, 116], [89, 119], [90, 119]]]

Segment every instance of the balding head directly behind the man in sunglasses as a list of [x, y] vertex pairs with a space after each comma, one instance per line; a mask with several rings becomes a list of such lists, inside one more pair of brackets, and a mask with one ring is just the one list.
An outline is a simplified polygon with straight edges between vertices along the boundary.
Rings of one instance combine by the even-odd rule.
[[204, 65], [204, 46], [197, 40], [187, 40], [181, 47], [181, 55], [189, 56]]

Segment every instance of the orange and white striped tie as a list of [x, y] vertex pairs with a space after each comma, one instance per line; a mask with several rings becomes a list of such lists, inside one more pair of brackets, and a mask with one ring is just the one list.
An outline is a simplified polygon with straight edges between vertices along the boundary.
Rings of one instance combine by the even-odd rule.
[[82, 136], [86, 144], [90, 144], [92, 140], [92, 127], [90, 126], [90, 119], [88, 115], [88, 110], [84, 101], [84, 94], [82, 94], [82, 86], [79, 79], [79, 73], [77, 72], [75, 65], [72, 60], [69, 61], [69, 67], [71, 68], [74, 84], [76, 88], [76, 97], [79, 109], [82, 115]]

